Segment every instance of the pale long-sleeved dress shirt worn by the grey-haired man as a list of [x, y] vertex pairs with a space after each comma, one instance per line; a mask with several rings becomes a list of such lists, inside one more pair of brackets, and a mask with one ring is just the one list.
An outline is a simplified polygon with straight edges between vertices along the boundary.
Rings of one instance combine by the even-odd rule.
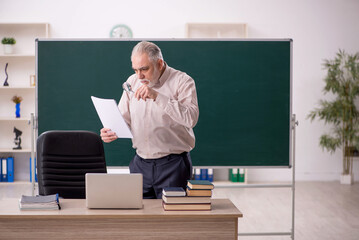
[[[142, 84], [136, 74], [127, 82], [134, 92]], [[158, 92], [155, 101], [137, 100], [134, 93], [124, 91], [118, 105], [133, 134], [133, 148], [145, 159], [191, 151], [199, 116], [194, 80], [166, 65], [152, 89]]]

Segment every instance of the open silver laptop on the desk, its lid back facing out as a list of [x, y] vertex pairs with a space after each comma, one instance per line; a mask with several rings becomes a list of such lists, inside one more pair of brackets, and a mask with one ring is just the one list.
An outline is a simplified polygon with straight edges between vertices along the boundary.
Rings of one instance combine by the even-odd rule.
[[142, 208], [142, 174], [86, 173], [86, 207]]

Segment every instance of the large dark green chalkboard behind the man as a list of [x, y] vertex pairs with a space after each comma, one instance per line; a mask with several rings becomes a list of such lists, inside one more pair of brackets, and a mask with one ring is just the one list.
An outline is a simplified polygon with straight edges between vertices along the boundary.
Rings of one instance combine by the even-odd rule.
[[[37, 40], [38, 133], [102, 128], [90, 96], [119, 101], [134, 40]], [[291, 165], [291, 40], [155, 40], [167, 64], [195, 80], [194, 166]], [[105, 144], [128, 166], [130, 139]]]

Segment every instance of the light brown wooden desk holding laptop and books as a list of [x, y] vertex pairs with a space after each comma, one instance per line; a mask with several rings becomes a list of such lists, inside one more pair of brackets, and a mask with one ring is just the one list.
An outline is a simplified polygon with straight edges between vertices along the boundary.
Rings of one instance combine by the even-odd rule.
[[212, 211], [164, 211], [160, 199], [139, 210], [87, 209], [84, 199], [62, 199], [62, 209], [20, 211], [0, 200], [0, 239], [237, 239], [242, 213], [228, 199]]

